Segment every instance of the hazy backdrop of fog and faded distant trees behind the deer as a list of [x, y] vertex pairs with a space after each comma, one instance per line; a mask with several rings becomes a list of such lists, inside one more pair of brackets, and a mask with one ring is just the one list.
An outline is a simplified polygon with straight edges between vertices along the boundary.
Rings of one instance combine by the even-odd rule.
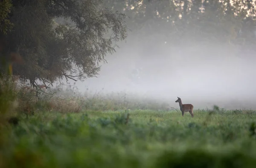
[[[79, 91], [133, 92], [169, 101], [173, 107], [178, 107], [175, 100], [180, 97], [183, 103], [192, 103], [195, 108], [211, 108], [214, 104], [223, 108], [256, 108], [256, 52], [224, 42], [229, 37], [232, 40], [234, 34], [234, 39], [239, 39], [249, 27], [254, 34], [244, 39], [255, 41], [253, 24], [243, 23], [241, 27], [241, 20], [231, 16], [244, 9], [248, 15], [253, 11], [248, 8], [255, 6], [245, 8], [248, 4], [240, 2], [234, 7], [234, 2], [239, 1], [222, 1], [193, 1], [194, 6], [190, 6], [191, 0], [173, 0], [172, 5], [166, 0], [104, 1], [113, 11], [129, 16], [128, 38], [118, 44], [120, 48], [114, 54], [108, 54], [108, 63], [101, 63], [98, 78], [76, 82]], [[201, 15], [198, 12], [197, 16], [192, 12], [198, 8]], [[234, 13], [225, 18], [222, 11], [213, 8], [232, 9]], [[191, 17], [185, 18], [185, 14]], [[196, 26], [205, 34], [200, 35]], [[141, 70], [137, 82], [131, 78], [134, 69]]]

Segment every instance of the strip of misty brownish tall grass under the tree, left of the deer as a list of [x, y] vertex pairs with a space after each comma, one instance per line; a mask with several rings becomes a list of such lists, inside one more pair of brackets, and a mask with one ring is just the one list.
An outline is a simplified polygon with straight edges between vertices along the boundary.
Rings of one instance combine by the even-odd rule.
[[116, 92], [104, 94], [87, 91], [79, 93], [75, 87], [56, 88], [42, 91], [18, 87], [17, 101], [19, 111], [34, 114], [37, 111], [55, 111], [61, 113], [79, 113], [81, 111], [116, 111], [116, 110], [164, 110], [171, 109], [168, 103], [132, 93]]

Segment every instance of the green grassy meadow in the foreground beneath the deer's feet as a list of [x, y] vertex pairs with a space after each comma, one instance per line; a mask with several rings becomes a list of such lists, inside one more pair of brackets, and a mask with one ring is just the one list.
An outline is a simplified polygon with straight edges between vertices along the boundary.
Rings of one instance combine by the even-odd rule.
[[[129, 113], [129, 117], [128, 117]], [[38, 112], [8, 127], [1, 168], [254, 168], [256, 113]]]

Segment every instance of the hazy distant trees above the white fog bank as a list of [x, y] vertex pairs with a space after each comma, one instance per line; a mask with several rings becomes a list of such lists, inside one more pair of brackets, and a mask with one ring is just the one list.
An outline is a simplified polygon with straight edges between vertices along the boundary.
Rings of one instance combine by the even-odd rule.
[[[172, 45], [186, 41], [246, 46], [255, 40], [256, 2], [251, 0], [107, 0], [124, 11], [138, 38], [162, 35]], [[156, 32], [156, 33], [152, 33]], [[245, 44], [246, 43], [246, 44]]]

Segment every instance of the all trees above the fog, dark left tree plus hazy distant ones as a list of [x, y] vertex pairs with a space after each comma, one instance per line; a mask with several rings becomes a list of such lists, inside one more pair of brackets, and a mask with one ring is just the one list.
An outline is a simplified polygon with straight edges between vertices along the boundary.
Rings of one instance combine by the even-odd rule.
[[98, 63], [105, 61], [127, 35], [137, 37], [138, 44], [141, 37], [148, 44], [156, 44], [156, 37], [161, 36], [173, 46], [208, 42], [238, 48], [236, 51], [255, 51], [255, 3], [2, 0], [0, 71], [3, 74], [12, 63], [12, 74], [34, 86], [38, 80], [44, 84], [65, 78], [84, 80], [97, 75]]

